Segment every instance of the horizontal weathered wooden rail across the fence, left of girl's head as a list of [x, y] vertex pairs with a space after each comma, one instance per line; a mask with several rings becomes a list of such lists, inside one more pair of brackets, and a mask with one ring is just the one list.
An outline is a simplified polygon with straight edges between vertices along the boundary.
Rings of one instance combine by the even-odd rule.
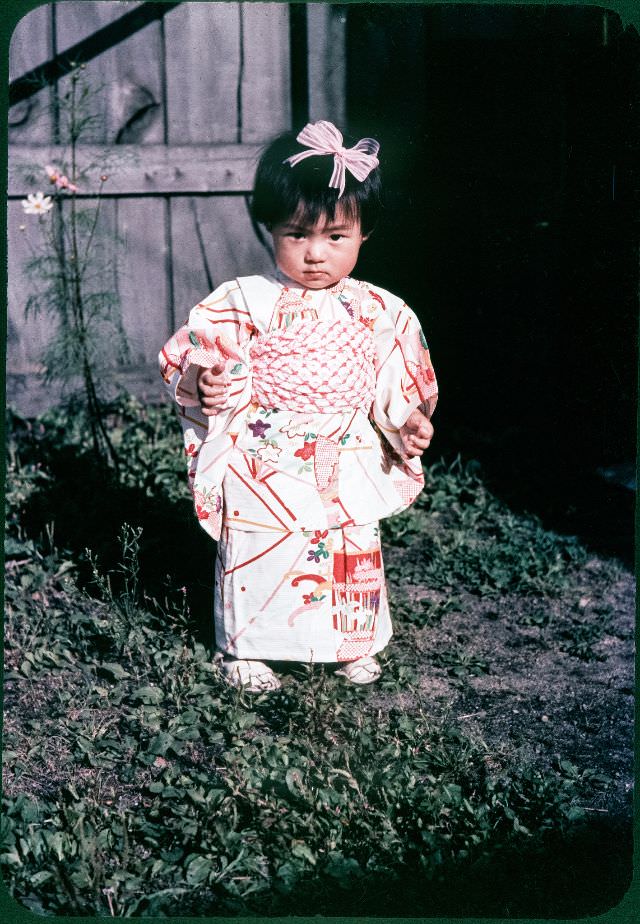
[[[81, 147], [78, 162], [104, 163], [119, 158], [121, 163], [109, 173], [103, 193], [110, 195], [246, 192], [260, 155], [260, 145], [148, 145], [141, 153], [137, 145]], [[20, 165], [61, 163], [64, 149], [54, 146], [15, 145], [9, 150], [13, 165], [9, 195], [33, 192], [21, 175]], [[94, 189], [89, 190], [93, 194]]]

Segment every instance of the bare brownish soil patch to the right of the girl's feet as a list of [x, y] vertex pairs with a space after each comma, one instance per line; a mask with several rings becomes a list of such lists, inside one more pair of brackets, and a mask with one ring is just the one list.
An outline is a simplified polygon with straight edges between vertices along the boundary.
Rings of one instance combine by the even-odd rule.
[[[391, 563], [396, 555], [402, 550], [389, 549], [387, 560]], [[629, 819], [635, 579], [620, 568], [611, 583], [605, 570], [602, 559], [592, 559], [581, 573], [577, 599], [547, 598], [543, 605], [519, 596], [487, 600], [459, 594], [456, 609], [444, 613], [437, 625], [396, 627], [389, 653], [393, 658], [401, 648], [410, 652], [422, 701], [434, 714], [446, 713], [463, 724], [485, 743], [493, 760], [542, 771], [569, 761], [578, 773], [608, 777], [606, 788], [583, 807]], [[416, 602], [425, 597], [438, 602], [439, 595], [424, 587], [404, 590]], [[546, 624], [527, 624], [545, 611]], [[603, 620], [602, 634], [585, 656], [561, 650], [558, 638], [570, 634], [567, 627], [598, 619]], [[464, 656], [455, 673], [451, 653], [460, 650]], [[447, 655], [452, 664], [443, 665]], [[409, 705], [416, 692], [408, 689], [402, 696]]]

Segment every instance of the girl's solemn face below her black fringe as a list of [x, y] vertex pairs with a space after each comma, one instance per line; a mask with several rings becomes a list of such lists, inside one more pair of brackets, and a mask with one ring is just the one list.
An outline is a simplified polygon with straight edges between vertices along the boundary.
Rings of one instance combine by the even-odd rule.
[[305, 289], [328, 289], [348, 276], [367, 235], [340, 208], [310, 225], [297, 214], [271, 228], [278, 268]]

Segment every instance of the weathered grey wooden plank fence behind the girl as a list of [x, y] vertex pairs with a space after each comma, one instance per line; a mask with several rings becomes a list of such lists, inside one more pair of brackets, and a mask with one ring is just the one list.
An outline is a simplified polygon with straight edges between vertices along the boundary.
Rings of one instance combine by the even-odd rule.
[[[143, 5], [63, 0], [38, 7], [13, 34], [10, 79]], [[145, 399], [160, 396], [158, 348], [189, 308], [225, 279], [273, 266], [248, 212], [262, 145], [292, 127], [294, 109], [343, 122], [345, 14], [328, 4], [305, 7], [292, 25], [288, 3], [182, 3], [87, 65], [103, 90], [97, 127], [80, 157], [116, 160], [103, 185], [101, 221], [124, 243], [105, 280], [119, 296], [129, 341], [130, 361], [118, 378]], [[292, 62], [299, 70], [300, 53], [305, 79], [296, 96]], [[9, 113], [7, 400], [29, 415], [57, 393], [44, 394], [39, 378], [52, 319], [25, 318], [38, 280], [24, 267], [39, 231], [20, 200], [46, 192], [44, 166], [60, 162], [56, 98], [69, 79]], [[25, 165], [41, 176], [38, 185], [25, 180]], [[99, 185], [96, 175], [95, 186], [80, 193], [91, 198]]]

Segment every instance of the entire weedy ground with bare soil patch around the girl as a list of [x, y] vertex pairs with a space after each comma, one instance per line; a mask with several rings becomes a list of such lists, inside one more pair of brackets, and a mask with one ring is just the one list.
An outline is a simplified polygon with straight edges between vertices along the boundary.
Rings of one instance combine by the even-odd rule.
[[252, 697], [211, 664], [211, 550], [175, 422], [122, 405], [116, 480], [92, 472], [66, 421], [10, 420], [0, 859], [18, 900], [418, 917], [620, 901], [623, 564], [514, 513], [474, 463], [436, 462], [384, 526], [395, 636], [381, 681], [281, 665], [283, 690]]

